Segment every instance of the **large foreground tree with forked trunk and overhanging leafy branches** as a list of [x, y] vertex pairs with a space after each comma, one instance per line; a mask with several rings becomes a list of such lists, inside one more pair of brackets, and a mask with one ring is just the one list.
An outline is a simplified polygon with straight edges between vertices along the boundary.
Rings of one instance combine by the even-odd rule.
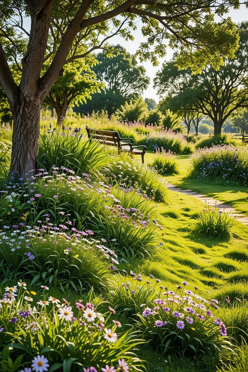
[[[116, 33], [132, 39], [130, 31], [136, 30], [136, 21], [141, 19], [147, 38], [137, 51], [141, 61], [157, 65], [156, 55], [165, 56], [167, 40], [171, 48], [180, 49], [180, 68], [190, 66], [197, 72], [209, 62], [218, 68], [223, 56], [233, 57], [238, 33], [230, 18], [216, 23], [213, 14], [221, 17], [232, 6], [239, 4], [231, 0], [180, 4], [167, 0], [1, 0], [0, 84], [13, 115], [10, 171], [25, 176], [37, 169], [41, 106], [66, 62], [104, 47]], [[24, 28], [25, 16], [31, 21], [30, 30]], [[24, 49], [20, 48], [22, 39], [27, 45]], [[22, 73], [20, 83], [10, 71], [10, 54]], [[42, 73], [48, 59], [51, 64]]]

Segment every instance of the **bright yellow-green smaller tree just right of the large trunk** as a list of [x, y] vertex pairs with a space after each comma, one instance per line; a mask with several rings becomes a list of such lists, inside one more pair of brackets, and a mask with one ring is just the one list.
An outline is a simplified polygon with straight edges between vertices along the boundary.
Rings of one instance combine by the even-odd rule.
[[65, 117], [69, 107], [86, 103], [86, 98], [100, 92], [103, 85], [97, 82], [96, 74], [80, 58], [64, 65], [63, 75], [54, 83], [44, 103], [55, 108], [59, 121], [61, 116]]

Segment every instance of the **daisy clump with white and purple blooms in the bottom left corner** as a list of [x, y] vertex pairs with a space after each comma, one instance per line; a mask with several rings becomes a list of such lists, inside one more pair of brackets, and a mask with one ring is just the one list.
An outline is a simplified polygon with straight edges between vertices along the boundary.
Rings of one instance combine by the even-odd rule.
[[[115, 311], [101, 314], [91, 303], [78, 300], [75, 307], [64, 299], [26, 290], [26, 283], [6, 287], [0, 307], [0, 342], [9, 344], [28, 371], [111, 371], [128, 372], [139, 365], [129, 350], [142, 340], [133, 339], [129, 329], [118, 333], [121, 324], [110, 321]], [[35, 306], [33, 306], [35, 304]], [[21, 362], [20, 362], [21, 363]], [[31, 368], [29, 366], [31, 365]]]

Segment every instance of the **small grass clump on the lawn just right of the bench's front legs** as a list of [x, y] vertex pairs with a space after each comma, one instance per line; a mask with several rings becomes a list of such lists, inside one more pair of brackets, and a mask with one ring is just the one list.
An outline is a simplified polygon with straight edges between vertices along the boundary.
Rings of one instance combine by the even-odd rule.
[[156, 154], [152, 159], [152, 163], [148, 164], [150, 167], [154, 167], [158, 173], [162, 174], [178, 174], [178, 163], [177, 157], [170, 150], [168, 153], [164, 151], [164, 148], [156, 148]]

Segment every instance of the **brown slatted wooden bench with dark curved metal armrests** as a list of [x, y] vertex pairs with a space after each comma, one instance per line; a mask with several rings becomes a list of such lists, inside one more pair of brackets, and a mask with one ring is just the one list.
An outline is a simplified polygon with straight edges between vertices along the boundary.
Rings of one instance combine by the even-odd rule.
[[[88, 138], [91, 140], [96, 140], [98, 142], [102, 142], [104, 145], [115, 146], [118, 148], [118, 154], [120, 151], [128, 151], [129, 153], [135, 155], [141, 155], [142, 163], [144, 164], [144, 155], [145, 150], [147, 150], [145, 145], [140, 146], [132, 146], [133, 139], [132, 138], [120, 138], [120, 135], [116, 131], [104, 131], [102, 129], [91, 129], [88, 128], [86, 125], [86, 131], [88, 134]], [[129, 141], [129, 142], [123, 142]], [[138, 150], [138, 148], [142, 147], [143, 150]]]

